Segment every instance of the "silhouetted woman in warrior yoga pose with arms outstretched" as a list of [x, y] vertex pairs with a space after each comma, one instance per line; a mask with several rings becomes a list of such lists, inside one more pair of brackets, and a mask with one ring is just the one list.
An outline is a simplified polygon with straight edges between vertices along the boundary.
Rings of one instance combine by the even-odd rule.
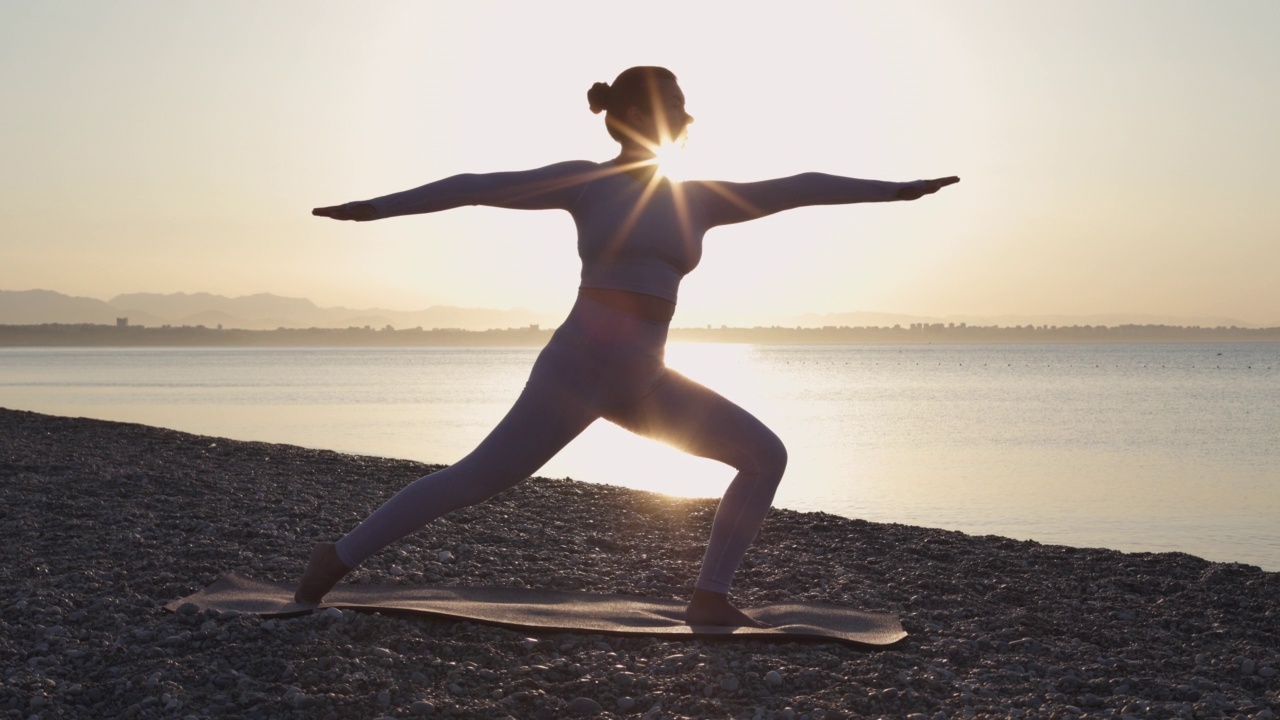
[[612, 86], [591, 86], [588, 100], [593, 113], [605, 113], [605, 127], [621, 145], [613, 160], [454, 176], [312, 211], [375, 220], [462, 205], [567, 210], [577, 224], [582, 283], [524, 392], [489, 437], [457, 464], [415, 480], [337, 543], [317, 544], [298, 602], [319, 602], [387, 544], [520, 483], [605, 418], [737, 470], [716, 512], [685, 619], [760, 626], [730, 603], [728, 589], [773, 502], [786, 448], [750, 413], [664, 368], [680, 281], [698, 265], [710, 228], [805, 205], [915, 200], [959, 178], [893, 183], [805, 173], [754, 183], [676, 183], [658, 172], [657, 150], [681, 140], [692, 118], [671, 70], [627, 69]]

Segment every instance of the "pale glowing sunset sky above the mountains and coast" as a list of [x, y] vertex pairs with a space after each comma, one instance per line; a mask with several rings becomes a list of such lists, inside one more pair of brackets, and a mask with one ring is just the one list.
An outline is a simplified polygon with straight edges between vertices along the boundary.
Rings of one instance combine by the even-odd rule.
[[607, 160], [588, 87], [658, 64], [691, 177], [963, 178], [712, 231], [677, 324], [1280, 325], [1276, 37], [1268, 0], [0, 0], [0, 290], [559, 314], [566, 213], [310, 209]]

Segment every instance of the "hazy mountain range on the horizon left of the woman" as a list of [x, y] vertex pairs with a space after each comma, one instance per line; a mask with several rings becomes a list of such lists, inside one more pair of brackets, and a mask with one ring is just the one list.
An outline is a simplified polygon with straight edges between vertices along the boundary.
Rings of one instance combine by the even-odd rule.
[[302, 297], [270, 293], [225, 297], [207, 292], [169, 295], [140, 292], [118, 295], [104, 302], [47, 290], [0, 291], [0, 324], [114, 324], [116, 318], [128, 318], [132, 325], [223, 325], [242, 329], [392, 325], [484, 331], [550, 324], [558, 320], [524, 307], [489, 310], [435, 306], [407, 311], [380, 307], [320, 307]]

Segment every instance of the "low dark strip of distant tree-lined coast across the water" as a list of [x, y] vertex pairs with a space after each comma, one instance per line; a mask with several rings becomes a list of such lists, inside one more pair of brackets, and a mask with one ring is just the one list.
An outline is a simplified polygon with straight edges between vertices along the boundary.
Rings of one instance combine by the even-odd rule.
[[[205, 325], [102, 325], [46, 323], [0, 325], [0, 347], [529, 347], [545, 345], [554, 328], [465, 331], [278, 328], [274, 331]], [[1180, 325], [966, 325], [913, 323], [893, 327], [672, 328], [672, 342], [742, 345], [980, 345], [1098, 342], [1280, 342], [1277, 328]]]

